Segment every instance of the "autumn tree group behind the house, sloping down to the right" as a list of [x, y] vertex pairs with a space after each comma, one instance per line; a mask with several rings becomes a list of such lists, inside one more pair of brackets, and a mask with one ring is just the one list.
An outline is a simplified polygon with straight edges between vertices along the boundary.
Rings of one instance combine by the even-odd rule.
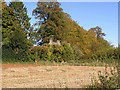
[[89, 31], [83, 29], [69, 14], [63, 12], [58, 2], [38, 2], [33, 15], [39, 20], [35, 23], [38, 25], [35, 36], [38, 40], [42, 38], [45, 43], [54, 36], [54, 41], [66, 41], [87, 55], [95, 53], [102, 47], [110, 46], [104, 40], [105, 33], [100, 27], [91, 28]]

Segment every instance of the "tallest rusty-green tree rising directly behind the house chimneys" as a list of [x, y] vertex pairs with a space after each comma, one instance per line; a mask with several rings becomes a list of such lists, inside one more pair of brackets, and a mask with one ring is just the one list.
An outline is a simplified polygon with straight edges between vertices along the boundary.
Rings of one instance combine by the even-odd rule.
[[[43, 38], [44, 42], [54, 35], [55, 39], [61, 39], [64, 13], [58, 2], [38, 2], [37, 7], [33, 10], [33, 15], [39, 19], [35, 25], [40, 26], [36, 30], [38, 38]], [[61, 35], [61, 36], [60, 36]]]

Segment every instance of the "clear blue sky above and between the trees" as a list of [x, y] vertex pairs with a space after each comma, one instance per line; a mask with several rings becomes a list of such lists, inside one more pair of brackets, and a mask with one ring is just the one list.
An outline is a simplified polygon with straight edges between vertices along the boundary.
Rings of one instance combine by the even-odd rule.
[[[104, 37], [115, 47], [118, 46], [118, 3], [117, 2], [60, 2], [61, 8], [85, 30], [99, 26], [106, 34]], [[24, 2], [30, 23], [36, 19], [32, 16], [37, 2]]]

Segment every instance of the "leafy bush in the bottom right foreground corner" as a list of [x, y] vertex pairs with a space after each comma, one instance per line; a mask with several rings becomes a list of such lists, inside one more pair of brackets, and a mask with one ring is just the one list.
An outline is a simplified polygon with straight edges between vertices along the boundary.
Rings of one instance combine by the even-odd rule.
[[[115, 69], [117, 69], [117, 72], [115, 72]], [[114, 69], [110, 70], [110, 73], [107, 72], [107, 67], [105, 72], [102, 74], [101, 71], [98, 72], [99, 81], [96, 80], [93, 76], [91, 78], [92, 84], [89, 86], [89, 88], [105, 88], [105, 89], [112, 89], [112, 88], [120, 88], [119, 87], [119, 79], [118, 79], [118, 67], [114, 66]]]

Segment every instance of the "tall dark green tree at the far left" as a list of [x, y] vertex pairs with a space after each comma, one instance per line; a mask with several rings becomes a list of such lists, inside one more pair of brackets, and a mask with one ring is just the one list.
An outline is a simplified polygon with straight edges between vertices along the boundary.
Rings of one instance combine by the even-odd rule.
[[30, 28], [29, 20], [27, 8], [23, 2], [10, 2], [9, 6], [3, 8], [3, 46], [10, 47], [15, 52], [16, 50], [25, 52], [31, 45], [27, 39]]

